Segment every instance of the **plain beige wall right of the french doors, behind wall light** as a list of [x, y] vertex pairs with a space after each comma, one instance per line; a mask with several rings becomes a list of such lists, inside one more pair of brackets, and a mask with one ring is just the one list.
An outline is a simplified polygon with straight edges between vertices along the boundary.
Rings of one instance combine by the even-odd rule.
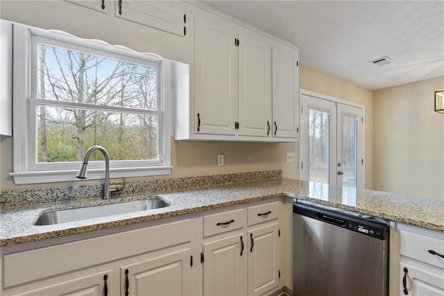
[[373, 93], [375, 190], [444, 199], [444, 76]]

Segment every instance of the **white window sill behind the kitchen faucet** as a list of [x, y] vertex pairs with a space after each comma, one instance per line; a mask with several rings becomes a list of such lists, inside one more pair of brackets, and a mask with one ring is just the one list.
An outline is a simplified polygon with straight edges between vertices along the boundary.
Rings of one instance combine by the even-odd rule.
[[[110, 179], [130, 178], [133, 176], [161, 176], [171, 174], [173, 167], [129, 167], [110, 169]], [[77, 170], [41, 171], [41, 172], [13, 172], [9, 176], [14, 178], [14, 183], [35, 184], [80, 181], [76, 178]], [[91, 169], [87, 172], [88, 180], [105, 179], [105, 170]]]

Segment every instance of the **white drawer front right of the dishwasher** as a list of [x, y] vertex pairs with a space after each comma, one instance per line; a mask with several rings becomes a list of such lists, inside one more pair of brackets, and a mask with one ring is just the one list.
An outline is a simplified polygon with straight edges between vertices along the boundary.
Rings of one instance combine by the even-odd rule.
[[400, 254], [402, 256], [444, 268], [444, 258], [437, 254], [431, 254], [431, 252], [436, 252], [444, 256], [444, 240], [421, 236], [409, 231], [400, 231], [400, 235]]

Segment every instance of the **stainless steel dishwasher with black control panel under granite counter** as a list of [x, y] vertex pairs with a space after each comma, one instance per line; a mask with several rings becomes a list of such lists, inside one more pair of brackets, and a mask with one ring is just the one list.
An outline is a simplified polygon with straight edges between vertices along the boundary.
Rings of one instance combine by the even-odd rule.
[[388, 221], [298, 200], [293, 296], [388, 295]]

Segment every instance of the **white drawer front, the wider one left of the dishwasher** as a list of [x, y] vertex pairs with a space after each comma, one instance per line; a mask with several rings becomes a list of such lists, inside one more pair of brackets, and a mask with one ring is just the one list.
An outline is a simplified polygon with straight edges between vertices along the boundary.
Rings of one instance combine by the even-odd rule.
[[224, 233], [244, 227], [245, 210], [228, 211], [203, 216], [203, 237]]

